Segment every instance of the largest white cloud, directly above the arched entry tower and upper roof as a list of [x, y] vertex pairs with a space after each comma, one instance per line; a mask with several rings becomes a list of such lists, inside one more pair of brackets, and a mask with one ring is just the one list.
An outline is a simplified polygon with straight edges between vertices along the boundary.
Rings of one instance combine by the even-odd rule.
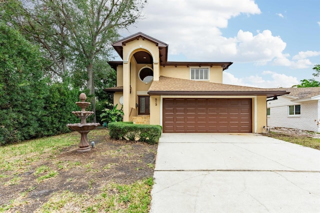
[[[138, 31], [169, 44], [169, 54], [183, 53], [188, 60], [232, 60], [237, 55], [234, 37], [223, 37], [220, 28], [240, 14], [261, 13], [254, 0], [149, 0]], [[130, 27], [123, 36], [135, 33]]]

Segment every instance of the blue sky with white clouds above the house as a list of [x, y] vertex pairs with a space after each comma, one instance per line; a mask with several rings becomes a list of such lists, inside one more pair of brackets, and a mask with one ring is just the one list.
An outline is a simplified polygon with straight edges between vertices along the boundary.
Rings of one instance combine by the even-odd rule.
[[290, 87], [320, 64], [320, 0], [148, 0], [143, 16], [120, 34], [167, 43], [169, 61], [232, 61], [223, 83]]

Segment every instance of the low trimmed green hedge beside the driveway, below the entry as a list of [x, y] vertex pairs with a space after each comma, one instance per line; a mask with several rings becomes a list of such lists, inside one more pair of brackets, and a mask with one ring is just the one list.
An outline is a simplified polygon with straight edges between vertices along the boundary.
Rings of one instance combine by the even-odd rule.
[[154, 144], [159, 141], [162, 126], [133, 124], [133, 122], [108, 123], [109, 135], [114, 139], [126, 139]]

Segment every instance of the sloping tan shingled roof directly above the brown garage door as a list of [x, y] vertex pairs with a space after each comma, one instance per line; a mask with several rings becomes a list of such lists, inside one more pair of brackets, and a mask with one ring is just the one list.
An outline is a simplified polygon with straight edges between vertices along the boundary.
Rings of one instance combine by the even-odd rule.
[[148, 90], [150, 95], [266, 95], [273, 97], [287, 93], [285, 89], [237, 86], [165, 76], [160, 76], [159, 81], [153, 81]]

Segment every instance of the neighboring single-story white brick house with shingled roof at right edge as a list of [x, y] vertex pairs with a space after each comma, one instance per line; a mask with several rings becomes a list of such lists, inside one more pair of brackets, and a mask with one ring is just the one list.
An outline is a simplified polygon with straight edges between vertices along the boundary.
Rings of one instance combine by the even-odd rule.
[[285, 90], [290, 93], [267, 101], [267, 125], [320, 132], [320, 87]]

